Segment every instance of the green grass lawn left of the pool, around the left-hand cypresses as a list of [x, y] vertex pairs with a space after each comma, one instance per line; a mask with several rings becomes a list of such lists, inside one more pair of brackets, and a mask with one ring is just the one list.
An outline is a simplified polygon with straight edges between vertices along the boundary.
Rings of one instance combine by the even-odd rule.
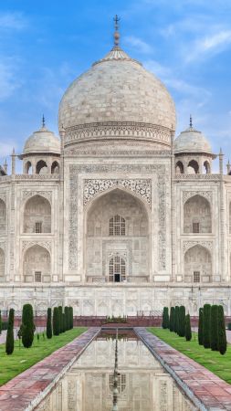
[[[21, 342], [19, 348], [18, 340], [15, 341], [15, 351], [11, 355], [5, 353], [5, 344], [0, 345], [0, 385], [4, 385], [7, 381], [14, 378], [17, 374], [22, 373], [27, 368], [41, 361], [50, 353], [58, 350], [58, 348], [71, 342], [78, 337], [87, 328], [78, 327], [63, 332], [58, 336], [53, 336], [52, 339], [44, 340], [40, 334], [39, 341], [37, 341], [37, 334], [31, 348], [24, 348]], [[46, 332], [45, 332], [46, 335]]]

